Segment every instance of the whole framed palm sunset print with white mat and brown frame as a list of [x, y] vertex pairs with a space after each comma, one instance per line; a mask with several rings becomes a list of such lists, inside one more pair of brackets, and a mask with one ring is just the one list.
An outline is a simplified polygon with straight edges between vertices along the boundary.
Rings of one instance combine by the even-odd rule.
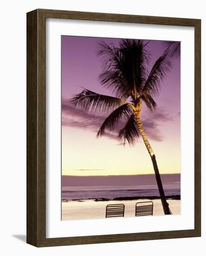
[[200, 30], [27, 13], [27, 243], [200, 236]]

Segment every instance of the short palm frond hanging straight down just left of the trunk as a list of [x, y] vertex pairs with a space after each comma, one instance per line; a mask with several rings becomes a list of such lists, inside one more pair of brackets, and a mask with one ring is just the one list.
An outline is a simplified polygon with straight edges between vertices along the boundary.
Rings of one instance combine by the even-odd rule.
[[127, 120], [125, 127], [119, 132], [119, 141], [122, 141], [124, 144], [128, 141], [129, 145], [134, 145], [137, 137], [139, 137], [137, 119], [136, 116], [132, 114]]

